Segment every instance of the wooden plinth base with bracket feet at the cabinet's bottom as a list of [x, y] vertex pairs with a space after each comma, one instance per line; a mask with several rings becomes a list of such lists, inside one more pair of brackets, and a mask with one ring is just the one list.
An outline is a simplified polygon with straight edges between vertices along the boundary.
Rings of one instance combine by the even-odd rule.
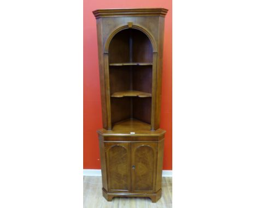
[[114, 197], [148, 197], [153, 203], [161, 198], [162, 189], [159, 189], [156, 193], [123, 193], [123, 192], [107, 192], [102, 188], [102, 194], [107, 201], [112, 201]]

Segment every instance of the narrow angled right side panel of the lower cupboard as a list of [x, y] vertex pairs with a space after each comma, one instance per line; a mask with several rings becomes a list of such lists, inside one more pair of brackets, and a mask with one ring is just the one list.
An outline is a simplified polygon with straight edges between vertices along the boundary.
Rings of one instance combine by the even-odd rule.
[[155, 191], [157, 192], [162, 186], [162, 163], [164, 158], [164, 139], [158, 143], [158, 164], [156, 167], [156, 185]]

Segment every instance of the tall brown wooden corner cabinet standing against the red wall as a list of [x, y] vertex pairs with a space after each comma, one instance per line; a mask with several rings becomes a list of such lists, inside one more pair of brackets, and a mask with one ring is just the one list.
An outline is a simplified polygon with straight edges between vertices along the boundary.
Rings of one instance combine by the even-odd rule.
[[103, 197], [161, 197], [159, 129], [167, 9], [102, 9], [97, 21]]

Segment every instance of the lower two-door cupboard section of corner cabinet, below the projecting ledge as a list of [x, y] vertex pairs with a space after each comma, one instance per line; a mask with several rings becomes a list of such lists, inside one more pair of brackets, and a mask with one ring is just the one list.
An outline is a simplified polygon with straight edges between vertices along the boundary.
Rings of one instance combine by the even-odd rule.
[[[163, 138], [147, 138], [150, 142], [112, 142], [113, 137], [99, 136], [103, 195], [113, 197], [161, 197]], [[146, 138], [145, 138], [146, 139]], [[158, 140], [159, 139], [159, 140]], [[103, 140], [105, 140], [103, 142]], [[117, 140], [117, 139], [116, 139]]]

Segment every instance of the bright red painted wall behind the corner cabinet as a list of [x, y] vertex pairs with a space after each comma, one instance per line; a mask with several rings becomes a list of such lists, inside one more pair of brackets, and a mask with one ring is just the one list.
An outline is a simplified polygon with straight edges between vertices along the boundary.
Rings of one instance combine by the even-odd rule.
[[166, 8], [161, 129], [166, 130], [164, 170], [172, 170], [172, 0], [84, 0], [84, 169], [100, 169], [97, 129], [102, 128], [96, 9]]

